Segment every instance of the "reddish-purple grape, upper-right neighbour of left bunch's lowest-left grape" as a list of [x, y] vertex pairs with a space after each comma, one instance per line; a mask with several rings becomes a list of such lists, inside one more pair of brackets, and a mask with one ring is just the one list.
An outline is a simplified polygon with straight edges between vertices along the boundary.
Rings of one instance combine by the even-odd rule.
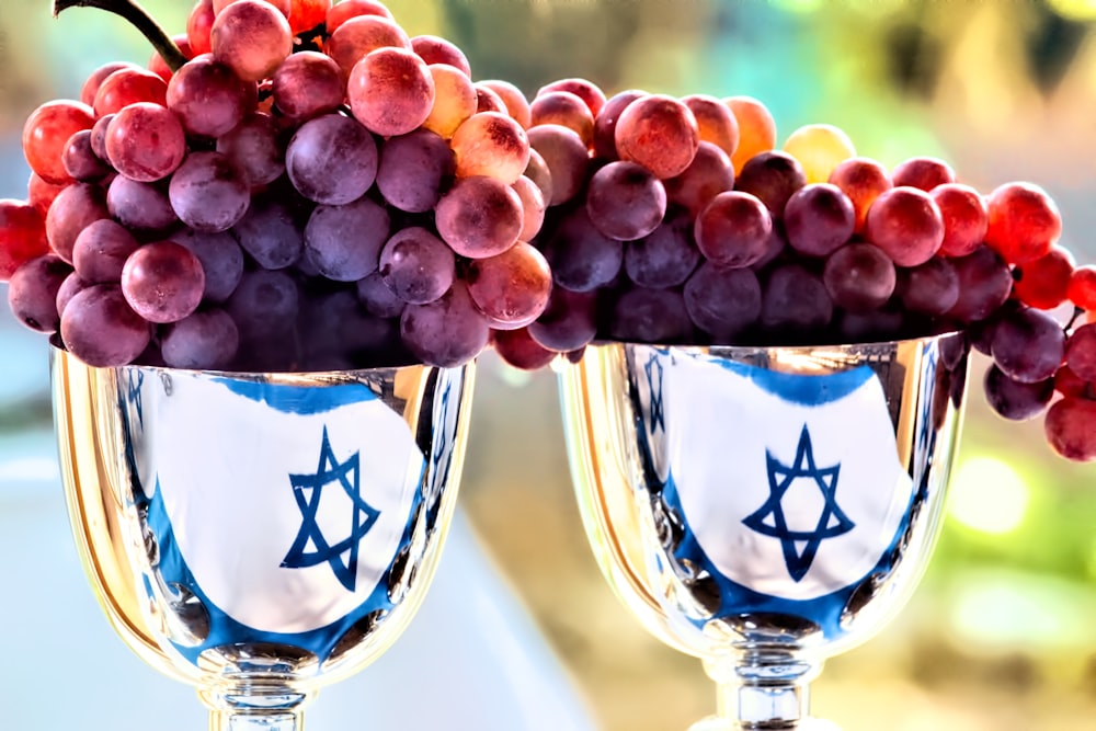
[[174, 241], [146, 243], [126, 260], [122, 292], [149, 322], [178, 322], [197, 309], [205, 292], [202, 261]]

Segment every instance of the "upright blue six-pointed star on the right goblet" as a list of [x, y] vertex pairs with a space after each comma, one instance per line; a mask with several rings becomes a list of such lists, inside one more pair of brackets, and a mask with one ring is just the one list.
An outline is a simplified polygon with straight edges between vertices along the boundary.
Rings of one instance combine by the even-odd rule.
[[[795, 581], [799, 581], [810, 570], [823, 540], [844, 535], [856, 525], [848, 519], [836, 502], [841, 464], [821, 469], [815, 466], [814, 447], [807, 424], [803, 424], [803, 431], [799, 435], [795, 464], [790, 466], [781, 464], [767, 449], [765, 461], [768, 469], [768, 499], [742, 522], [762, 535], [780, 540], [788, 573]], [[825, 500], [812, 530], [791, 530], [784, 511], [785, 493], [796, 480], [800, 479], [813, 481]]]

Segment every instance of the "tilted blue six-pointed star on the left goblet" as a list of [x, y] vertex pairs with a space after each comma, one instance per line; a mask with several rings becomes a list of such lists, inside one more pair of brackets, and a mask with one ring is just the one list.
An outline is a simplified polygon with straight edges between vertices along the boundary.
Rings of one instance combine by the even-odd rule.
[[[297, 507], [300, 509], [301, 521], [293, 546], [282, 559], [283, 569], [305, 569], [328, 563], [346, 591], [354, 591], [354, 584], [357, 582], [358, 545], [380, 516], [380, 511], [362, 499], [359, 455], [361, 453], [355, 452], [343, 462], [336, 460], [331, 449], [331, 441], [328, 438], [328, 429], [324, 426], [316, 473], [289, 475], [293, 496], [297, 501]], [[338, 483], [346, 493], [353, 510], [349, 526], [350, 535], [329, 544], [316, 521], [316, 515], [323, 489], [333, 483]], [[312, 546], [312, 550], [309, 550], [309, 546]]]

